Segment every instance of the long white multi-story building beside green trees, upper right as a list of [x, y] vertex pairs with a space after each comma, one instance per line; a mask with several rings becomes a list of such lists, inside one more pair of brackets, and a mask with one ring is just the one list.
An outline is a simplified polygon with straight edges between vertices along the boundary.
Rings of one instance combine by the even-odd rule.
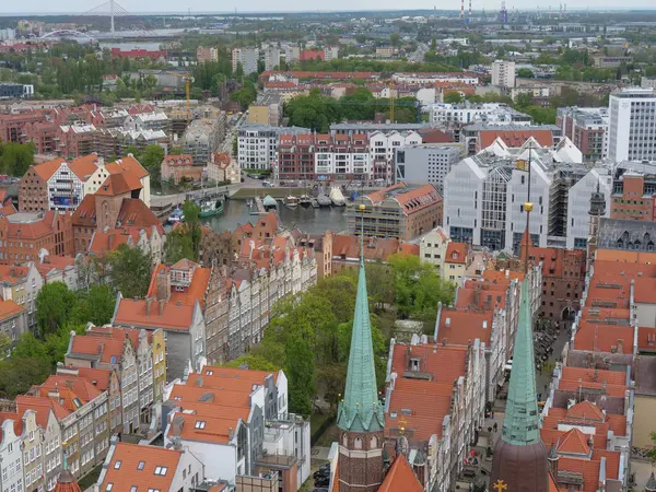
[[531, 117], [502, 103], [433, 104], [430, 109], [432, 125], [473, 122], [530, 125]]

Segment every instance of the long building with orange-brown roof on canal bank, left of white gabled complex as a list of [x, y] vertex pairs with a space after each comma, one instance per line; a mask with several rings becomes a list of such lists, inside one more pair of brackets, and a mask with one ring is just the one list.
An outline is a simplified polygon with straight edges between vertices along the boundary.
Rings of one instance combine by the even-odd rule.
[[442, 196], [433, 185], [398, 183], [348, 204], [350, 234], [408, 241], [442, 225]]

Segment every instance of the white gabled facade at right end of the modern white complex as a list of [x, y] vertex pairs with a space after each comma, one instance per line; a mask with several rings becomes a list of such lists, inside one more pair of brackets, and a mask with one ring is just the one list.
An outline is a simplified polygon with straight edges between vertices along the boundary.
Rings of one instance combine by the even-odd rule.
[[590, 196], [597, 190], [606, 197], [606, 215], [610, 216], [612, 176], [606, 168], [590, 169], [567, 195], [567, 249], [586, 249], [589, 234]]

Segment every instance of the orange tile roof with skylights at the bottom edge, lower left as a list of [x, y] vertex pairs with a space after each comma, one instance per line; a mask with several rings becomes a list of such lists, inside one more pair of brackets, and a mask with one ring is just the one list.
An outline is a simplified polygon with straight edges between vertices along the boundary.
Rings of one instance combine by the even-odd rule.
[[[107, 490], [107, 484], [112, 483], [113, 492], [130, 492], [133, 487], [138, 491], [168, 491], [181, 456], [181, 450], [118, 443], [114, 447], [101, 490]], [[141, 462], [143, 465], [140, 467]], [[156, 467], [165, 467], [166, 475], [155, 475]]]

